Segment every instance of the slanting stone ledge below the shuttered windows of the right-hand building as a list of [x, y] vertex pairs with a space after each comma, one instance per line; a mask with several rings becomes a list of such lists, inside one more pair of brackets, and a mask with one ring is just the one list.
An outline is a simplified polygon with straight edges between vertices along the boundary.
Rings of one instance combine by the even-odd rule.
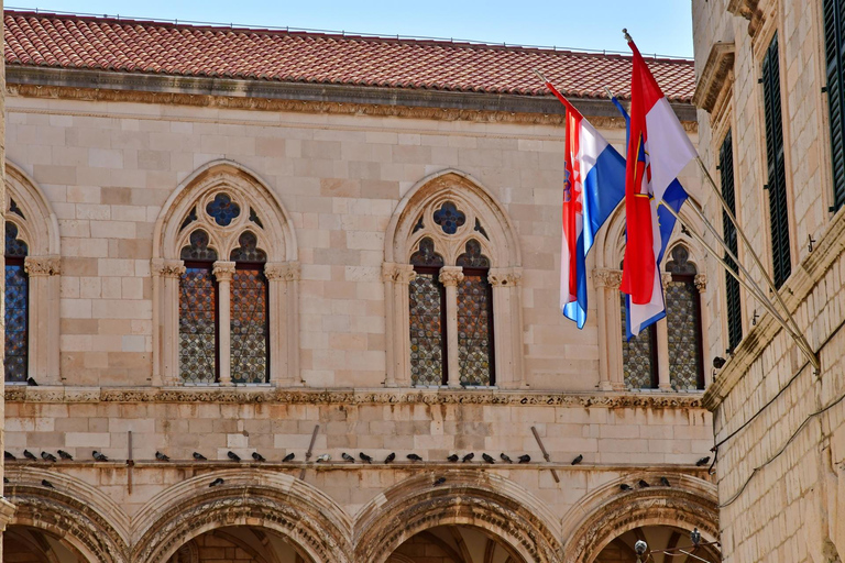
[[[817, 239], [819, 244], [813, 252], [792, 269], [792, 275], [780, 288], [780, 296], [792, 314], [806, 300], [825, 272], [845, 251], [845, 246], [843, 246], [843, 241], [845, 241], [845, 210], [839, 209], [827, 225], [827, 230]], [[835, 330], [835, 327], [828, 330]], [[718, 377], [707, 388], [702, 405], [709, 410], [718, 408], [725, 397], [745, 376], [751, 364], [757, 361], [780, 332], [780, 325], [770, 314], [762, 316], [757, 325], [736, 347], [734, 355], [722, 368]], [[823, 335], [819, 340], [824, 341], [826, 335]]]

